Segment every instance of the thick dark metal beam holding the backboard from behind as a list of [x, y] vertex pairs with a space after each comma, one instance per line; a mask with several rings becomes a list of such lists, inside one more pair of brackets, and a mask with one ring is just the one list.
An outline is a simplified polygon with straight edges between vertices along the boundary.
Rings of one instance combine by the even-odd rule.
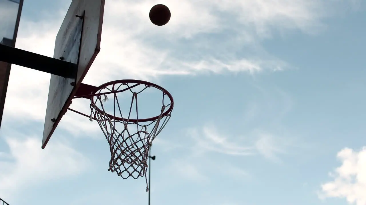
[[0, 44], [0, 61], [51, 73], [65, 78], [75, 78], [78, 66], [75, 63], [47, 57], [29, 51]]

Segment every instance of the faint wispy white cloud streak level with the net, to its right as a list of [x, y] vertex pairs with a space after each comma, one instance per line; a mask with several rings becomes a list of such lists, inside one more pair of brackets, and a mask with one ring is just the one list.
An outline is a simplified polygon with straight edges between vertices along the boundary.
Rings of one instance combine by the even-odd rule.
[[[220, 133], [221, 131], [221, 133]], [[214, 125], [204, 125], [202, 130], [189, 129], [187, 135], [194, 140], [193, 152], [200, 156], [205, 152], [216, 152], [232, 156], [262, 155], [272, 162], [280, 163], [280, 155], [293, 147], [299, 148], [297, 139], [277, 136], [259, 129], [246, 134], [223, 134]]]

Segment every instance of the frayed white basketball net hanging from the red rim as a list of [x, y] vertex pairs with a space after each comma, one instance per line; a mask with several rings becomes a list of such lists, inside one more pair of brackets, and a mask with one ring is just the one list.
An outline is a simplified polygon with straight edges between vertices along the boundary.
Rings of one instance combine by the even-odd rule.
[[[127, 83], [124, 85], [128, 86]], [[111, 152], [111, 160], [109, 161], [108, 171], [116, 172], [117, 175], [123, 179], [132, 177], [137, 179], [144, 177], [146, 180], [146, 192], [149, 191], [147, 183], [147, 159], [149, 158], [149, 149], [153, 140], [161, 130], [165, 127], [171, 117], [172, 98], [171, 102], [164, 105], [164, 96], [167, 94], [163, 91], [163, 105], [161, 107], [160, 115], [151, 119], [139, 120], [138, 115], [138, 94], [147, 88], [154, 86], [145, 86], [140, 92], [133, 92], [128, 86], [128, 89], [120, 91], [122, 86], [113, 85], [112, 89], [108, 87], [100, 89], [95, 96], [91, 97], [90, 104], [90, 121], [96, 120], [102, 129], [105, 137], [109, 143], [109, 150]], [[157, 87], [154, 87], [157, 88]], [[102, 90], [107, 89], [109, 96], [113, 98], [108, 99], [107, 94], [103, 94]], [[159, 88], [158, 88], [159, 89]], [[117, 92], [131, 91], [132, 98], [128, 116], [123, 116], [120, 102], [117, 97]], [[101, 97], [104, 96], [104, 97]], [[170, 94], [168, 96], [171, 97]], [[105, 109], [105, 102], [112, 101], [114, 111], [113, 114], [108, 114]], [[133, 105], [136, 106], [133, 106]], [[170, 109], [168, 109], [171, 107]], [[131, 114], [134, 114], [136, 119], [130, 119]]]

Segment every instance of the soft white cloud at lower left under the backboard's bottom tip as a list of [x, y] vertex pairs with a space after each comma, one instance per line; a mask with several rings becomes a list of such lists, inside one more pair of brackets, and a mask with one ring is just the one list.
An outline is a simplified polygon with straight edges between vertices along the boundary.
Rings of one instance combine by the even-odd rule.
[[10, 151], [0, 155], [0, 194], [6, 198], [25, 187], [80, 174], [89, 166], [85, 156], [60, 141], [45, 150], [35, 137], [13, 135], [5, 142]]

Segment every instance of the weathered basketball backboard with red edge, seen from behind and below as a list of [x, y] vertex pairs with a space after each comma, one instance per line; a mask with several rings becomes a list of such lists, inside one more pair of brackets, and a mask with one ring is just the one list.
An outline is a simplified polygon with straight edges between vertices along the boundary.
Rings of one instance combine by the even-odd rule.
[[71, 104], [100, 51], [105, 0], [72, 0], [56, 36], [53, 58], [78, 66], [73, 78], [51, 75], [42, 149]]

